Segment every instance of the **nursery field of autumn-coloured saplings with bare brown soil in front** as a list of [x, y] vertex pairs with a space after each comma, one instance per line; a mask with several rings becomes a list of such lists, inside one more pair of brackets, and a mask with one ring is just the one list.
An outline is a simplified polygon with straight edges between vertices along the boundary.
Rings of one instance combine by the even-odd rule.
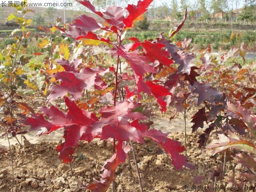
[[1, 192], [256, 191], [255, 47], [235, 34], [228, 50], [195, 48], [187, 11], [137, 37], [152, 1], [82, 0], [97, 17], [37, 32], [15, 7], [0, 43]]

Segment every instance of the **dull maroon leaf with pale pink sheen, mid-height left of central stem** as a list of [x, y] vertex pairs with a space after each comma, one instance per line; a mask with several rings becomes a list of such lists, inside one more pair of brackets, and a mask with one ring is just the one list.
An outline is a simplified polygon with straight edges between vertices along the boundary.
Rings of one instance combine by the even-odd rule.
[[89, 89], [95, 84], [99, 88], [102, 84], [99, 75], [104, 75], [107, 72], [109, 72], [109, 69], [106, 70], [102, 67], [85, 67], [80, 70], [79, 73], [73, 71], [58, 72], [54, 77], [55, 79], [60, 80], [61, 84], [54, 85], [49, 89], [52, 90], [52, 93], [49, 95], [48, 99], [52, 100], [58, 97], [63, 97], [67, 93], [70, 93], [74, 99], [79, 99], [84, 89]]

